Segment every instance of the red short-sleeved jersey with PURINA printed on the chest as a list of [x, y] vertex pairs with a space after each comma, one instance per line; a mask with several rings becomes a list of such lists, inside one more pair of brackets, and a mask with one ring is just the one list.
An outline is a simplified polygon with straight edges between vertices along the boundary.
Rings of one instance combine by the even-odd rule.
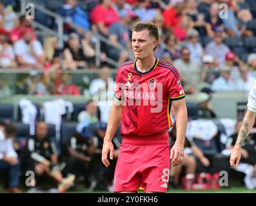
[[124, 99], [121, 136], [144, 136], [165, 131], [172, 126], [172, 100], [185, 97], [179, 71], [155, 59], [154, 66], [144, 73], [136, 59], [119, 67], [115, 97]]

